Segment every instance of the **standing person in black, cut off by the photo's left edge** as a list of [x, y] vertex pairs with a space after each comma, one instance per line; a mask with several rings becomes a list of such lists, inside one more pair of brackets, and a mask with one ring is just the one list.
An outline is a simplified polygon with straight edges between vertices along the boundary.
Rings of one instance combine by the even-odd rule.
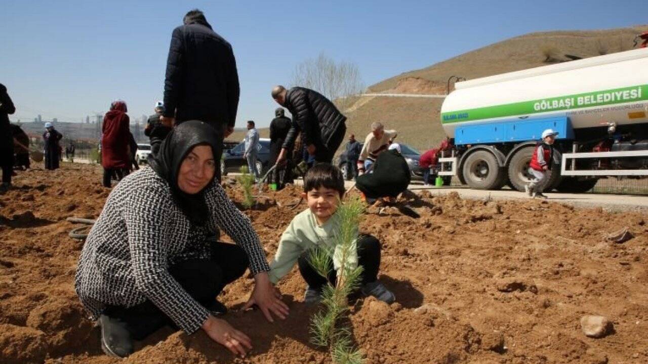
[[0, 190], [11, 187], [11, 174], [14, 169], [14, 137], [9, 124], [9, 115], [16, 112], [6, 87], [0, 84], [0, 168], [2, 168], [2, 185]]

